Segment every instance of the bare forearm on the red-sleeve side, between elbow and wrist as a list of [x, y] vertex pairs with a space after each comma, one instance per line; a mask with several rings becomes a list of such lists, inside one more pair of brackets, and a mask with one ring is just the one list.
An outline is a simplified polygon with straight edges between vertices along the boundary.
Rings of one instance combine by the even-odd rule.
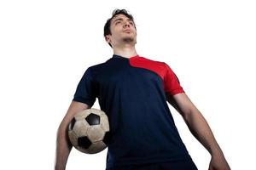
[[213, 155], [223, 154], [216, 139], [213, 136], [212, 130], [209, 127], [206, 119], [201, 115], [201, 112], [196, 108], [191, 111], [184, 121], [189, 127], [190, 132], [201, 144]]

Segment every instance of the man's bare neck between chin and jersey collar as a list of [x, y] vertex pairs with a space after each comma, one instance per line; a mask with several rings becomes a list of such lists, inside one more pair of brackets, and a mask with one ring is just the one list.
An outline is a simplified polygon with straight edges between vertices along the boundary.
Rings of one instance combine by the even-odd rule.
[[134, 45], [126, 44], [122, 47], [113, 47], [113, 54], [117, 54], [126, 58], [130, 58], [137, 55]]

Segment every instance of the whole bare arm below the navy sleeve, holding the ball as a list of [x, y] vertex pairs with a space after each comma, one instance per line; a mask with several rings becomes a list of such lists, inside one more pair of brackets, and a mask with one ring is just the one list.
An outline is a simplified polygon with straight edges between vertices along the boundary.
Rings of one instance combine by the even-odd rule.
[[72, 101], [69, 106], [67, 114], [64, 116], [57, 132], [55, 170], [64, 170], [66, 168], [67, 158], [72, 149], [72, 144], [69, 142], [67, 137], [68, 123], [76, 113], [88, 108], [90, 108], [89, 105], [77, 101]]

